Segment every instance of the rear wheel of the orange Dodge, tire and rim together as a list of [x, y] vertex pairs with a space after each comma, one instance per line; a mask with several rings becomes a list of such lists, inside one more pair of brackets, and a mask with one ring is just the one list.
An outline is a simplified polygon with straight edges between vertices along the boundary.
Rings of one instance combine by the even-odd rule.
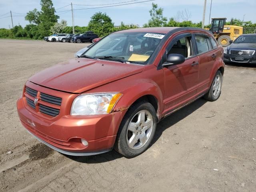
[[[220, 97], [222, 88], [223, 76], [220, 70], [218, 70], [214, 76], [209, 91], [204, 95], [204, 98], [208, 101], [216, 101]], [[217, 84], [217, 88], [216, 88]]]

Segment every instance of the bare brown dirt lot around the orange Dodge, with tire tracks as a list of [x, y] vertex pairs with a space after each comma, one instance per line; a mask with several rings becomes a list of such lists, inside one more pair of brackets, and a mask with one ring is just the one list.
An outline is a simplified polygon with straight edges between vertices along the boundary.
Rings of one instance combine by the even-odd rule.
[[226, 65], [219, 100], [162, 120], [136, 158], [64, 156], [35, 140], [16, 112], [24, 83], [85, 46], [0, 40], [0, 191], [255, 191], [256, 66]]

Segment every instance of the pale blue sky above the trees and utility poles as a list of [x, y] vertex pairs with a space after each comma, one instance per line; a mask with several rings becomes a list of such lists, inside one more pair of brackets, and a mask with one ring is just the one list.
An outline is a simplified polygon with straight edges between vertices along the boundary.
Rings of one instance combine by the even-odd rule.
[[[73, 4], [113, 4], [118, 2], [127, 2], [130, 0], [52, 0], [55, 9], [61, 8], [70, 4], [72, 1]], [[137, 0], [134, 2], [140, 2], [145, 0]], [[182, 11], [184, 9], [189, 10], [191, 12], [192, 22], [200, 22], [202, 20], [203, 14], [203, 5], [204, 0], [155, 0], [154, 3], [158, 4], [159, 7], [164, 8], [164, 16], [168, 19], [170, 17], [176, 16], [178, 11]], [[210, 14], [210, 2], [211, 0], [207, 0], [206, 7], [206, 19], [205, 24], [209, 22], [209, 14]], [[152, 2], [142, 2], [138, 4], [130, 4], [123, 6], [115, 6], [109, 8], [96, 8], [89, 10], [75, 10], [74, 11], [74, 22], [75, 25], [78, 26], [87, 26], [90, 21], [90, 17], [95, 12], [106, 12], [115, 25], [119, 25], [122, 21], [125, 24], [139, 24], [142, 26], [144, 23], [148, 21], [150, 18], [149, 10], [151, 8]], [[77, 6], [74, 5], [74, 9], [80, 8], [92, 8], [97, 6]], [[22, 25], [23, 27], [28, 24], [27, 21], [24, 20], [22, 14], [26, 14], [28, 11], [37, 8], [40, 10], [40, 0], [0, 0], [0, 28], [9, 28], [11, 26], [11, 18], [2, 18], [6, 16], [10, 16], [10, 12], [12, 10], [13, 24]], [[212, 13], [211, 17], [226, 17], [228, 20], [230, 18], [238, 18], [251, 20], [256, 23], [256, 0], [212, 0]], [[65, 8], [61, 8], [56, 10], [60, 19], [64, 19], [68, 21], [68, 26], [72, 25], [72, 17], [71, 12], [60, 12], [65, 10], [70, 10], [71, 6], [67, 6]], [[244, 16], [245, 14], [245, 16]]]

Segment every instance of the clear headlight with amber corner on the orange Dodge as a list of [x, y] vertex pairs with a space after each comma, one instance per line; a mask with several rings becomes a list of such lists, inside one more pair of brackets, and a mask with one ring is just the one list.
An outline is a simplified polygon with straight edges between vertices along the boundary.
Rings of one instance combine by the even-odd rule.
[[122, 93], [82, 94], [75, 98], [71, 115], [108, 114], [122, 96]]

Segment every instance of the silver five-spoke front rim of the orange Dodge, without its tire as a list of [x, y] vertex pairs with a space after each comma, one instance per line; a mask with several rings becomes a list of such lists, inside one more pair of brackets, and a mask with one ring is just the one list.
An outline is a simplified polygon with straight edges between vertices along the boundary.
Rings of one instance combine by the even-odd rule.
[[130, 121], [126, 132], [126, 141], [133, 150], [142, 148], [150, 138], [153, 128], [153, 119], [150, 112], [141, 110]]

